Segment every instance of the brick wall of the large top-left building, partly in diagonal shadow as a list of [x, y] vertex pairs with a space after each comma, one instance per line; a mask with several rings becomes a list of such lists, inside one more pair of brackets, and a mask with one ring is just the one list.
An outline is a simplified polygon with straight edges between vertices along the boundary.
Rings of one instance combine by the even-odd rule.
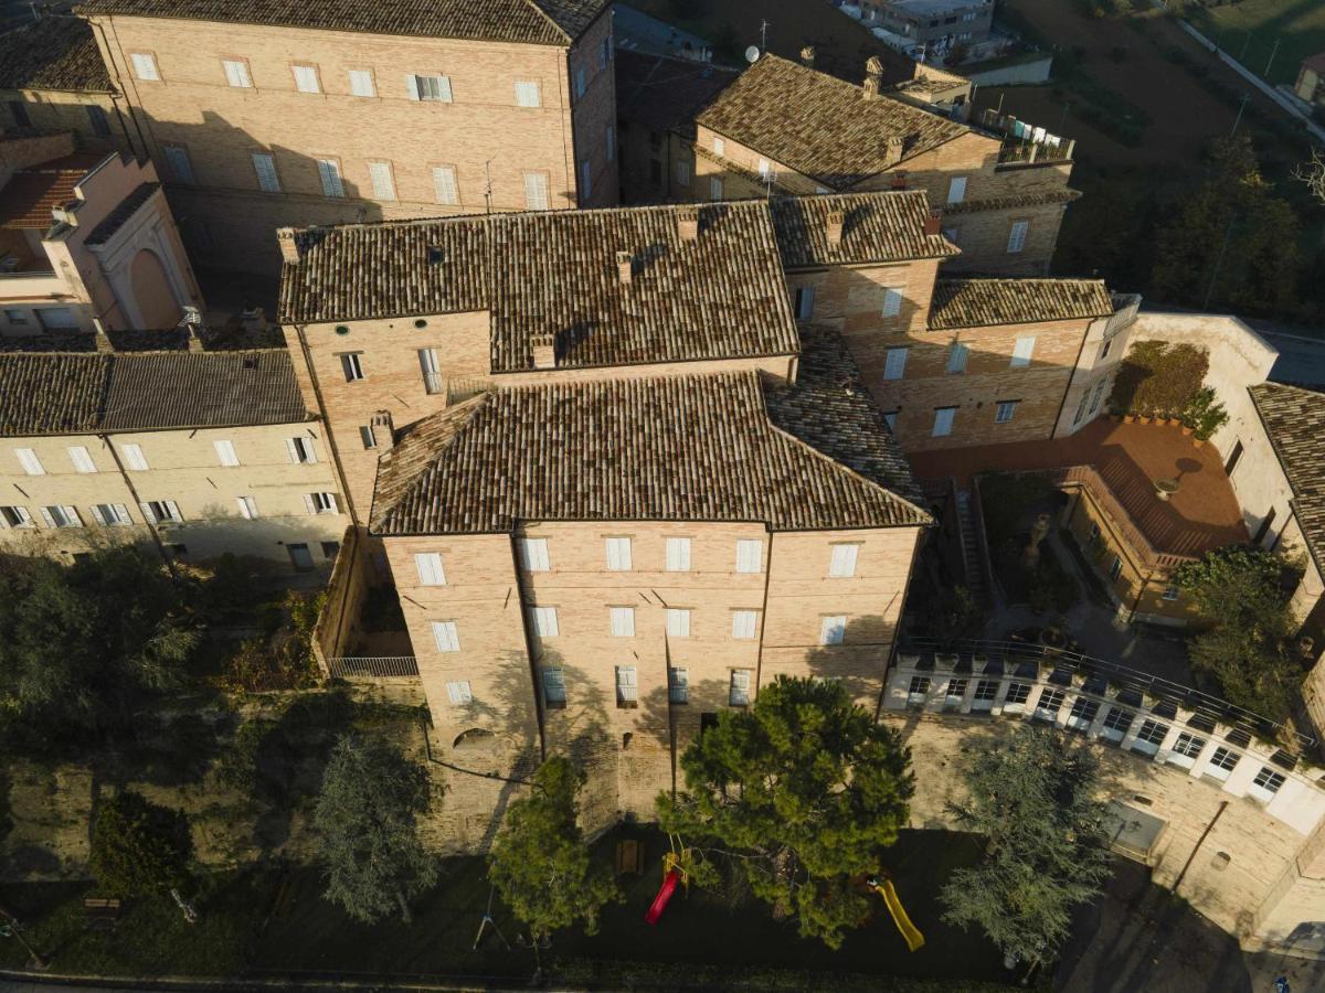
[[[273, 267], [272, 232], [281, 225], [474, 213], [489, 203], [525, 209], [525, 172], [547, 175], [550, 207], [575, 207], [580, 139], [572, 117], [587, 127], [615, 117], [611, 62], [598, 71], [596, 56], [586, 101], [572, 114], [564, 48], [167, 19], [93, 21], [105, 29], [103, 56], [163, 175], [166, 146], [188, 152], [196, 185], [170, 192], [191, 222], [191, 248], [236, 267]], [[610, 30], [611, 19], [602, 19], [572, 57]], [[134, 77], [134, 53], [155, 56], [159, 82]], [[246, 62], [252, 87], [227, 83], [227, 58]], [[297, 91], [294, 65], [317, 68], [322, 91]], [[351, 94], [351, 69], [372, 73], [375, 97]], [[453, 102], [411, 101], [411, 73], [449, 77]], [[539, 107], [517, 106], [517, 81], [539, 85]], [[584, 142], [604, 146], [602, 132]], [[280, 193], [260, 191], [253, 152], [274, 156]], [[343, 200], [323, 195], [317, 159], [338, 162]], [[375, 195], [371, 162], [391, 166], [394, 200]], [[456, 205], [437, 203], [432, 169], [440, 166], [456, 169]], [[612, 197], [602, 203], [613, 203], [615, 177], [606, 167], [595, 171]]]

